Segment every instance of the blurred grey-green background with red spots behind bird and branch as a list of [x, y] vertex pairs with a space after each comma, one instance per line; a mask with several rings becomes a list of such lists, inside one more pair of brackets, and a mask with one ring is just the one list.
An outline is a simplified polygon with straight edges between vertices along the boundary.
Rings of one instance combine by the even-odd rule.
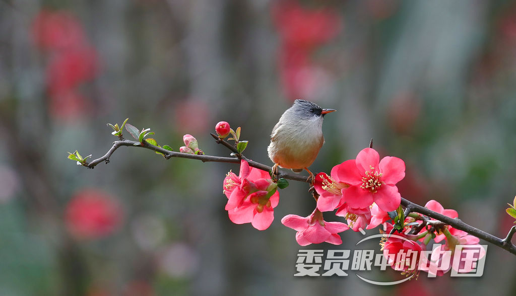
[[299, 249], [363, 237], [301, 248], [280, 220], [312, 212], [305, 184], [257, 231], [224, 211], [234, 164], [122, 147], [88, 170], [67, 152], [104, 155], [129, 118], [229, 156], [208, 135], [224, 120], [272, 165], [270, 131], [304, 98], [338, 110], [313, 172], [373, 138], [405, 160], [402, 196], [505, 237], [515, 93], [515, 1], [1, 0], [0, 295], [514, 295], [516, 257], [493, 245], [480, 278], [294, 277]]

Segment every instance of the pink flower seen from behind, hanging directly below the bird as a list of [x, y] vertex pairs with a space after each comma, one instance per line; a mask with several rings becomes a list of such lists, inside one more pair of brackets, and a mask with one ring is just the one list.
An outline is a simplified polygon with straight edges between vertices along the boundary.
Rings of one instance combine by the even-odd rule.
[[281, 223], [297, 231], [296, 240], [303, 246], [321, 242], [341, 244], [342, 239], [338, 233], [349, 228], [345, 223], [324, 221], [322, 212], [317, 208], [308, 217], [287, 215], [281, 219]]

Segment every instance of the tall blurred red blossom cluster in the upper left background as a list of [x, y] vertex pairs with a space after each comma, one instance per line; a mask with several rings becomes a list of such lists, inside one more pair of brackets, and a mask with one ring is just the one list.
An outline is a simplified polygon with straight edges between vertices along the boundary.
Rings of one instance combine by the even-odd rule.
[[47, 93], [52, 116], [73, 119], [88, 110], [80, 86], [98, 73], [98, 57], [79, 20], [66, 11], [42, 10], [32, 33], [39, 50], [48, 59]]

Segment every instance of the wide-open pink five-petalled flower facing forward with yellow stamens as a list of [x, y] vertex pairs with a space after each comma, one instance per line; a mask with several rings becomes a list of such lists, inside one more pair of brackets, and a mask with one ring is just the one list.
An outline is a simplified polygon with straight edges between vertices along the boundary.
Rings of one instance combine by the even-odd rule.
[[405, 177], [405, 162], [386, 156], [380, 161], [376, 150], [366, 148], [357, 159], [344, 161], [332, 169], [340, 182], [349, 184], [343, 190], [344, 202], [351, 208], [367, 208], [376, 203], [383, 211], [393, 211], [401, 202], [396, 183]]

